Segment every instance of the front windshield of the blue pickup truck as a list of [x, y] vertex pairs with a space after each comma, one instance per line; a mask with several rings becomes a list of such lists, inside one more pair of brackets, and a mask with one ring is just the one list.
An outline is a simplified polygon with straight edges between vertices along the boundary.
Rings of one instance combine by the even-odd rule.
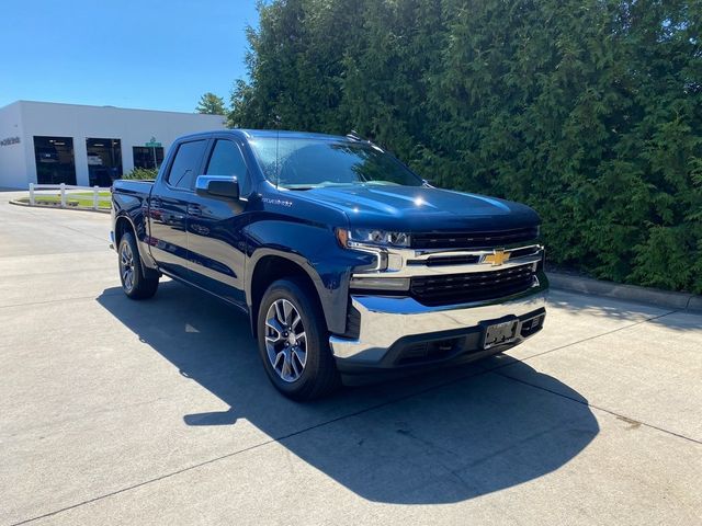
[[249, 142], [265, 178], [284, 188], [423, 184], [393, 156], [369, 144], [288, 137], [257, 137]]

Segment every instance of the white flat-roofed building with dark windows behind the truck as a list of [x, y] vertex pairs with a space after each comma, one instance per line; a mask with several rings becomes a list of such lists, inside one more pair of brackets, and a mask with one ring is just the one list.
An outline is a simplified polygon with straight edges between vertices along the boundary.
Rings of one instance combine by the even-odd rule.
[[222, 115], [18, 101], [0, 108], [0, 187], [109, 186], [159, 165], [177, 137], [224, 127]]

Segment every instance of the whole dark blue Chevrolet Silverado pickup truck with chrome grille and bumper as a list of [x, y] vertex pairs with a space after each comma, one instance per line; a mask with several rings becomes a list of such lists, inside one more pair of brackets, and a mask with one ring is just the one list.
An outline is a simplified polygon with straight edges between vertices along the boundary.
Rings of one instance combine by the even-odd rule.
[[112, 195], [125, 294], [151, 297], [167, 275], [240, 308], [297, 400], [342, 375], [489, 356], [543, 327], [539, 216], [432, 187], [355, 134], [190, 135], [155, 182]]

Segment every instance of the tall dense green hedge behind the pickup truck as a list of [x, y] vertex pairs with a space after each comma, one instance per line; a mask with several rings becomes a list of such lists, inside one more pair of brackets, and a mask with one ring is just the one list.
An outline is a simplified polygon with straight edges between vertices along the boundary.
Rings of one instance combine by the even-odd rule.
[[279, 0], [233, 126], [355, 129], [529, 203], [553, 262], [702, 291], [702, 2]]

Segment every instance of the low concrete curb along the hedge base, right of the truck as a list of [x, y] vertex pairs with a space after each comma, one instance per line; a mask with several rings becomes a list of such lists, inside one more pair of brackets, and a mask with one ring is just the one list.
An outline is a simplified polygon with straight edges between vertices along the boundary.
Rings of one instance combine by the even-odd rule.
[[592, 279], [589, 277], [571, 276], [569, 274], [546, 273], [553, 288], [574, 293], [592, 294], [608, 298], [639, 301], [656, 307], [665, 307], [675, 310], [702, 311], [702, 296], [688, 293], [675, 293], [658, 288], [638, 287], [636, 285], [622, 285], [613, 282]]

